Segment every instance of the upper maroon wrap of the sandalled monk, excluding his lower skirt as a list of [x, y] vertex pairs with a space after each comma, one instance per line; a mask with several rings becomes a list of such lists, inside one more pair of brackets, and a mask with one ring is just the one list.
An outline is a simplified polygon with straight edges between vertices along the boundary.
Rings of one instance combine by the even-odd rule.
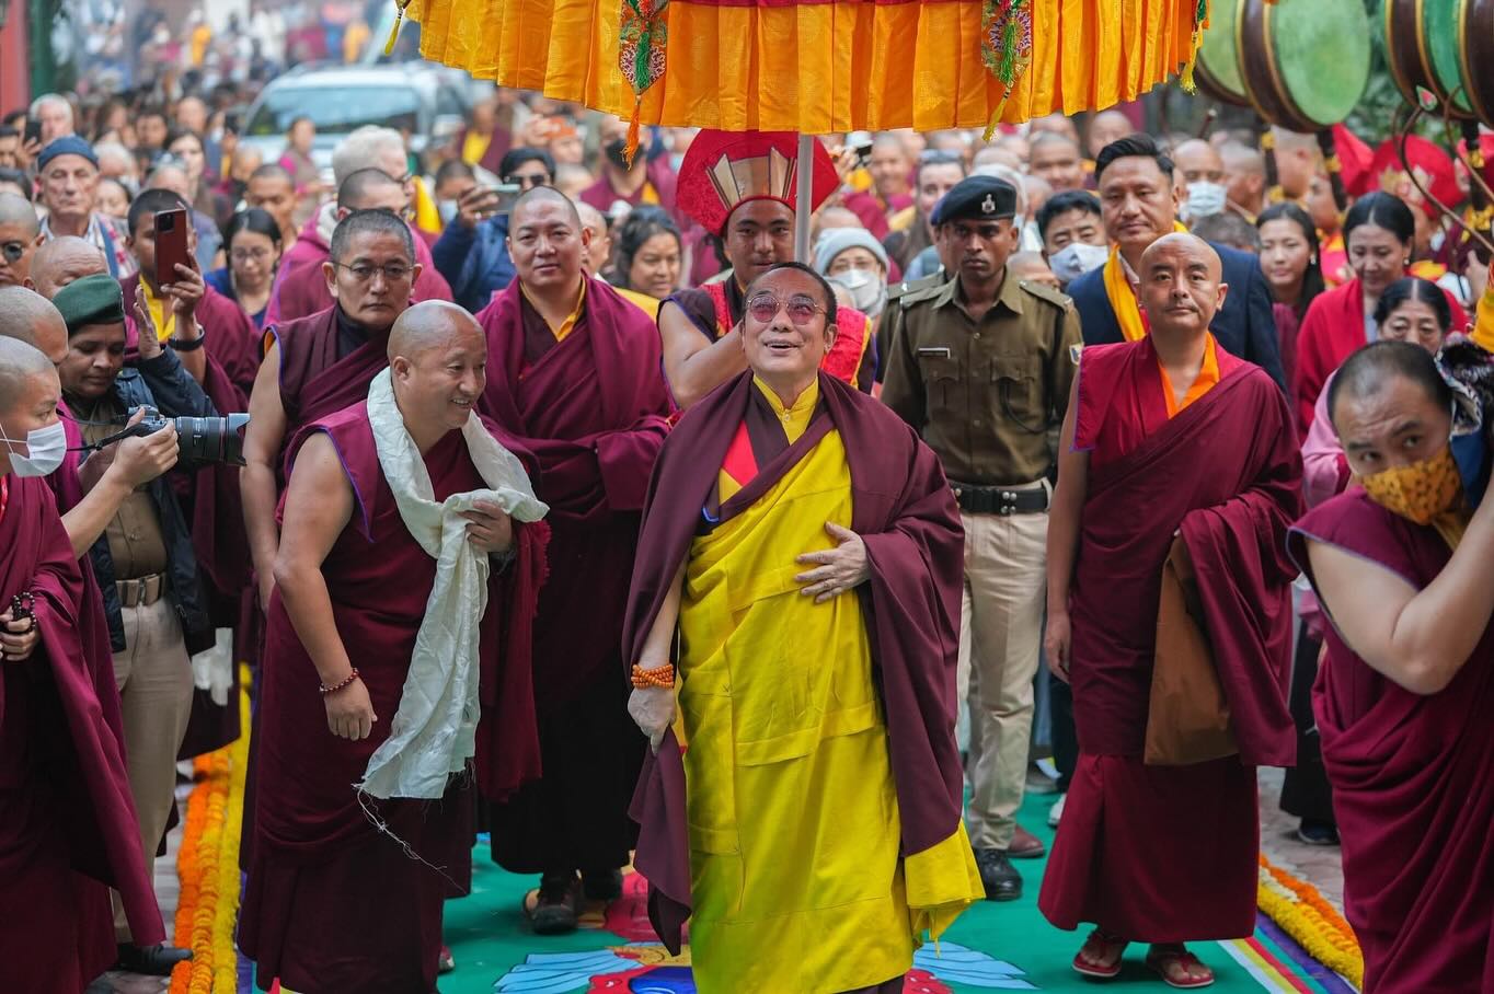
[[1080, 358], [1074, 446], [1092, 454], [1070, 613], [1086, 754], [1143, 752], [1162, 563], [1180, 531], [1240, 761], [1295, 761], [1286, 690], [1297, 570], [1285, 539], [1301, 507], [1301, 455], [1280, 390], [1256, 366], [1218, 355], [1219, 384], [1171, 419], [1149, 337]]

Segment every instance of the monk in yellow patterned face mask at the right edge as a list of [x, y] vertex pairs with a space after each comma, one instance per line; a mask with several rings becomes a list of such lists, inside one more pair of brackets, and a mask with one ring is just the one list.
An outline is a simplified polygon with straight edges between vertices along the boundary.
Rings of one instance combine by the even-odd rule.
[[1364, 484], [1307, 513], [1294, 560], [1333, 625], [1313, 691], [1364, 990], [1494, 990], [1494, 500], [1469, 510], [1454, 396], [1406, 342], [1328, 388]]

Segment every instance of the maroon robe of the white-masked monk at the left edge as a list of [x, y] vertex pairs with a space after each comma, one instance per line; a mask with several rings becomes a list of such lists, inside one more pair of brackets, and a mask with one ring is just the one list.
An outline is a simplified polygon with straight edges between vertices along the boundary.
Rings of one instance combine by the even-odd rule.
[[166, 931], [139, 848], [97, 588], [48, 485], [4, 478], [0, 603], [30, 591], [40, 643], [0, 666], [0, 963], [6, 988], [76, 994], [115, 960], [108, 885], [134, 942]]

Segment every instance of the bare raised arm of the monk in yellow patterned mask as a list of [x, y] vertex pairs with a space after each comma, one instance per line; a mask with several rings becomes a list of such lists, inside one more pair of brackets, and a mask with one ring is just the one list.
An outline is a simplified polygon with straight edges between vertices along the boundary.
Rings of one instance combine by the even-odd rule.
[[1354, 654], [1413, 694], [1436, 694], [1469, 661], [1494, 616], [1494, 500], [1422, 591], [1337, 546], [1307, 542], [1315, 587]]

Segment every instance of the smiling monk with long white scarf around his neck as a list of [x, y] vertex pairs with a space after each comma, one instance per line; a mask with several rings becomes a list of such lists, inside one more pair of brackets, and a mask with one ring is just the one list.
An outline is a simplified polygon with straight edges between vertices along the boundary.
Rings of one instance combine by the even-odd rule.
[[426, 303], [385, 346], [368, 398], [288, 451], [239, 945], [296, 994], [433, 991], [441, 904], [471, 881], [469, 764], [498, 795], [539, 770], [509, 646], [545, 509], [474, 410], [487, 342]]

